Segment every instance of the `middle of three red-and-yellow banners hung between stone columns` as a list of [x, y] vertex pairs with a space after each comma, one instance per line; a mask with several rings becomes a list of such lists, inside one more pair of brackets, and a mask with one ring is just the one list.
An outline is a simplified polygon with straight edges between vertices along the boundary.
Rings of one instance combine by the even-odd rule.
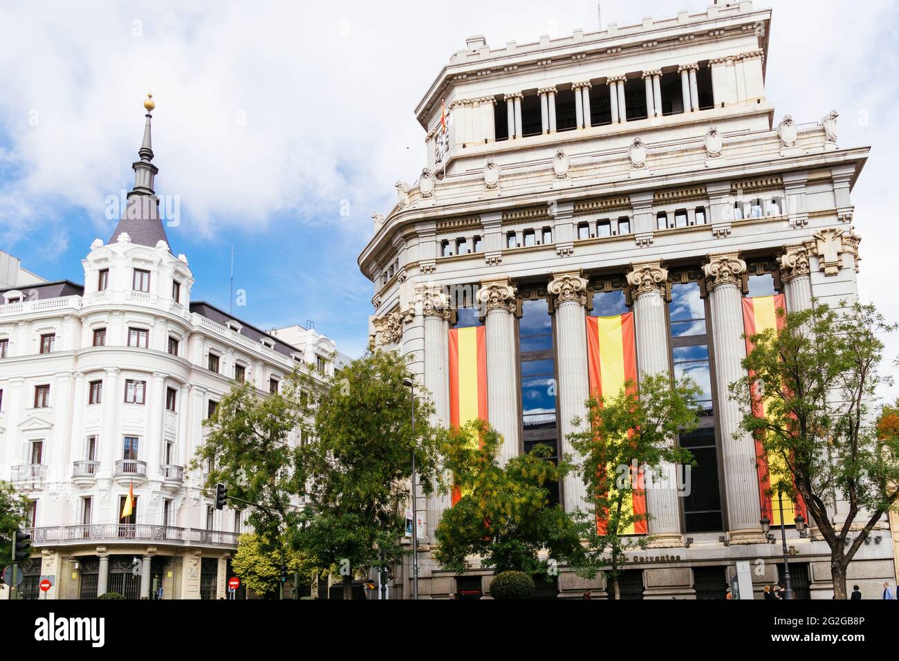
[[[587, 317], [587, 370], [590, 375], [590, 392], [600, 401], [605, 397], [616, 397], [626, 381], [636, 383], [633, 312], [615, 317]], [[610, 466], [609, 469], [614, 471], [615, 467]], [[646, 513], [642, 474], [636, 475], [636, 490], [625, 497], [623, 505], [628, 512]], [[599, 514], [596, 524], [602, 534], [605, 522]], [[625, 531], [628, 535], [646, 533], [645, 519], [632, 523]]]

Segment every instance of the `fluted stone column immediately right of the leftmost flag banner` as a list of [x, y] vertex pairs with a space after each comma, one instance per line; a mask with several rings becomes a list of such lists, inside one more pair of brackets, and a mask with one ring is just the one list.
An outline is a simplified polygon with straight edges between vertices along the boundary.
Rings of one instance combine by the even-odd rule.
[[508, 278], [482, 281], [477, 301], [485, 312], [487, 336], [487, 411], [502, 434], [500, 464], [519, 454], [518, 378], [515, 371], [515, 290]]

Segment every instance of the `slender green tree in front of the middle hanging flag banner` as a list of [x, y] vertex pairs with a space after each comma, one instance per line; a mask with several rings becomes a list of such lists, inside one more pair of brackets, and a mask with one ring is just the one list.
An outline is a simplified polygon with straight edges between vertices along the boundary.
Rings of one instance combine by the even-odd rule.
[[[588, 512], [578, 513], [589, 558], [579, 573], [593, 577], [603, 571], [612, 599], [620, 596], [618, 577], [628, 550], [651, 541], [648, 535], [628, 534], [631, 526], [650, 518], [628, 506], [631, 497], [645, 496], [649, 478], [654, 478], [653, 488], [674, 488], [673, 476], [664, 475], [663, 466], [692, 462], [690, 452], [673, 439], [696, 427], [700, 394], [688, 378], [672, 381], [666, 373], [647, 375], [639, 394], [628, 381], [613, 397], [587, 400], [583, 431], [568, 435], [583, 457], [580, 474], [590, 505]], [[575, 419], [574, 426], [581, 427], [582, 420]], [[637, 469], [643, 470], [642, 483]]]

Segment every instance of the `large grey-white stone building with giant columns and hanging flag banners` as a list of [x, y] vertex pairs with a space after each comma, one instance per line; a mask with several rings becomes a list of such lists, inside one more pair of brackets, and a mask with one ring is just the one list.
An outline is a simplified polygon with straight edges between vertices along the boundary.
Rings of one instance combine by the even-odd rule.
[[[468, 39], [415, 109], [427, 167], [396, 184], [396, 206], [375, 214], [359, 257], [374, 283], [369, 332], [411, 357], [444, 424], [458, 415], [453, 388], [466, 389], [451, 383], [448, 337], [485, 326], [478, 396], [503, 456], [538, 441], [571, 452], [565, 435], [591, 388], [592, 317], [633, 312], [639, 372], [699, 381], [707, 415], [680, 439], [699, 462], [693, 495], [647, 493], [655, 548], [628, 563], [626, 598], [723, 596], [738, 559], [763, 561], [756, 593], [779, 580], [779, 537], [769, 543], [760, 523], [775, 515], [762, 512], [752, 440], [734, 438], [726, 393], [742, 375], [743, 301], [782, 293], [797, 310], [857, 296], [850, 191], [868, 147], [838, 145], [828, 109], [802, 123], [775, 114], [770, 18], [743, 1], [532, 43]], [[583, 485], [566, 479], [558, 498], [582, 504]], [[432, 562], [447, 506], [420, 502], [421, 592], [477, 594], [488, 572], [476, 562], [466, 576]], [[845, 511], [837, 503], [832, 516]], [[850, 567], [850, 585], [870, 595], [894, 576], [886, 527], [885, 517]], [[830, 598], [826, 544], [814, 528], [788, 529], [797, 593]], [[408, 567], [398, 576], [408, 594]], [[604, 590], [565, 572], [557, 587]]]

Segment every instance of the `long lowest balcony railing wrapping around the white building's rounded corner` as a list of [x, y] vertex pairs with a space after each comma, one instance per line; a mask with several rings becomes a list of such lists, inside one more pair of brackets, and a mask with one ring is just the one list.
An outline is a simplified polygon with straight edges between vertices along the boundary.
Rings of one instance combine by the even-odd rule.
[[199, 528], [178, 528], [151, 523], [85, 523], [78, 525], [51, 525], [31, 528], [31, 545], [35, 548], [49, 546], [76, 546], [78, 544], [129, 543], [152, 541], [157, 545], [180, 547], [209, 547], [236, 549], [237, 532], [206, 531]]

